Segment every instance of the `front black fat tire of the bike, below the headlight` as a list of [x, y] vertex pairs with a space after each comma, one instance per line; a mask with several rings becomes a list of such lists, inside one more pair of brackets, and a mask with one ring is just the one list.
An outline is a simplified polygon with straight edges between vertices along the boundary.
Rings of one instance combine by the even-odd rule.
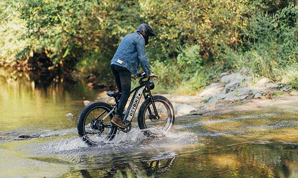
[[[152, 95], [152, 96], [153, 96], [153, 99], [154, 99], [154, 103], [155, 102], [162, 102], [164, 104], [164, 106], [166, 107], [166, 109], [167, 109], [167, 114], [168, 114], [168, 118], [170, 118], [170, 121], [167, 124], [167, 127], [164, 128], [164, 131], [168, 131], [174, 125], [174, 121], [175, 121], [175, 113], [174, 113], [173, 105], [164, 96], [161, 96], [161, 95]], [[138, 125], [139, 125], [139, 128], [141, 130], [143, 130], [143, 133], [146, 136], [149, 136], [149, 137], [161, 136], [162, 134], [152, 133], [152, 132], [147, 130], [148, 128], [146, 127], [146, 123], [145, 123], [145, 114], [146, 114], [146, 109], [149, 107], [150, 104], [151, 104], [151, 99], [148, 98], [142, 103], [142, 105], [139, 109], [139, 112], [138, 112]], [[152, 112], [154, 113], [153, 110], [152, 110]]]

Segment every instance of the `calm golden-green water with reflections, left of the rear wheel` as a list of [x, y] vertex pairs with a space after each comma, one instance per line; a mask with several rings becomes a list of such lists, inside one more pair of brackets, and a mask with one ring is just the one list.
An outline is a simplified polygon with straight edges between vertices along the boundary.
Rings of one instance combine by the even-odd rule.
[[0, 69], [0, 131], [74, 127], [76, 119], [65, 114], [78, 116], [83, 100], [96, 98], [95, 91], [79, 83], [36, 84], [26, 77], [12, 80], [8, 74]]

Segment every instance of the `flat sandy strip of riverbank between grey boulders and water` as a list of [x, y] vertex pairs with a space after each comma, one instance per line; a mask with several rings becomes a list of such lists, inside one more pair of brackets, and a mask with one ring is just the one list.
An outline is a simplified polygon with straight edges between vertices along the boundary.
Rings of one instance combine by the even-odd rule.
[[[198, 96], [165, 95], [174, 105], [176, 116], [183, 118], [197, 118], [198, 116], [215, 116], [226, 113], [241, 113], [251, 111], [294, 111], [298, 112], [298, 96], [284, 93], [280, 96], [269, 98], [249, 99], [245, 101], [219, 104], [213, 107], [206, 107], [204, 103], [193, 102], [199, 99]], [[183, 101], [181, 98], [187, 98]], [[185, 107], [184, 109], [180, 107]], [[194, 110], [190, 110], [193, 109]], [[178, 109], [178, 110], [177, 110]], [[186, 113], [188, 112], [188, 113]]]

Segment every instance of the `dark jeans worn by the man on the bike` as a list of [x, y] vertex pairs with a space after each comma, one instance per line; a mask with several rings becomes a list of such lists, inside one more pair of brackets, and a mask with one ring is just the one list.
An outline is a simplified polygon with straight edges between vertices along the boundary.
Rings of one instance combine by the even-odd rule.
[[125, 67], [112, 64], [111, 69], [115, 77], [118, 92], [122, 92], [116, 115], [123, 117], [123, 110], [130, 96], [132, 77], [129, 70]]

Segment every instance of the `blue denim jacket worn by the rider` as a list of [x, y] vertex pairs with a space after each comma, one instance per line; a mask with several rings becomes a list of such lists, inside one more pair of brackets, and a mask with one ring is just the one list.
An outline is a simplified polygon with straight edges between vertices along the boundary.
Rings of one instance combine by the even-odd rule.
[[141, 63], [144, 72], [150, 75], [151, 71], [145, 52], [145, 39], [139, 33], [131, 33], [120, 42], [111, 64], [123, 66], [137, 76], [139, 63]]

